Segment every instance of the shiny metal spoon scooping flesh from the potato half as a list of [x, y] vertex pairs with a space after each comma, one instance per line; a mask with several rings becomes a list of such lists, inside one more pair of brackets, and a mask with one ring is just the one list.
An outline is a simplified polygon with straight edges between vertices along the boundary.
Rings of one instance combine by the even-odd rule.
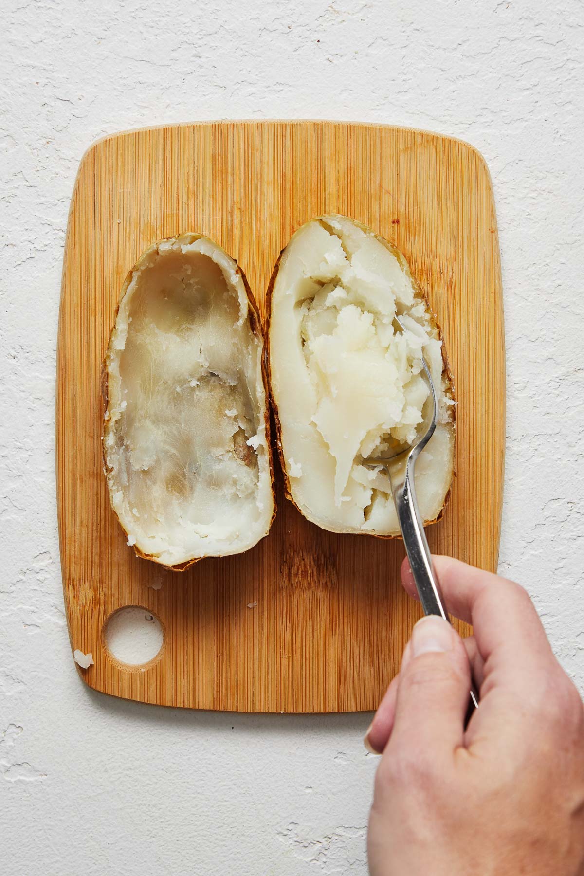
[[[404, 323], [395, 317], [399, 328], [405, 331]], [[426, 363], [426, 359], [422, 357], [422, 365], [430, 388], [430, 398], [432, 403], [426, 413], [426, 420], [422, 423], [419, 433], [421, 437], [415, 444], [407, 445], [405, 448], [398, 448], [394, 454], [389, 453], [388, 456], [371, 457], [362, 459], [362, 465], [367, 468], [380, 466], [385, 470], [390, 478], [391, 492], [393, 500], [396, 504], [398, 512], [399, 528], [405, 544], [405, 551], [410, 561], [412, 568], [412, 576], [418, 590], [419, 601], [422, 604], [425, 614], [436, 614], [440, 618], [444, 618], [450, 623], [444, 600], [440, 592], [440, 583], [434, 572], [432, 555], [426, 533], [424, 532], [424, 521], [419, 514], [418, 500], [416, 498], [416, 488], [414, 484], [414, 468], [416, 460], [421, 451], [426, 447], [426, 444], [433, 436], [434, 429], [438, 423], [438, 399], [436, 398], [436, 389], [433, 384], [433, 379], [430, 374], [430, 369]], [[470, 691], [470, 702], [468, 703], [467, 723], [472, 712], [478, 705], [478, 695], [473, 685]]]

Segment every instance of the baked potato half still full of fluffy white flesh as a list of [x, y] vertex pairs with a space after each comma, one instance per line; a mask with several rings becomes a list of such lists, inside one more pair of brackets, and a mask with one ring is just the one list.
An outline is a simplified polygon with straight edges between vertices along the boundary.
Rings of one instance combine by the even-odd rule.
[[360, 458], [415, 442], [431, 404], [426, 357], [440, 419], [416, 463], [416, 489], [426, 523], [438, 519], [454, 468], [453, 387], [402, 254], [346, 216], [306, 223], [272, 277], [268, 340], [288, 498], [336, 533], [399, 534], [389, 478]]

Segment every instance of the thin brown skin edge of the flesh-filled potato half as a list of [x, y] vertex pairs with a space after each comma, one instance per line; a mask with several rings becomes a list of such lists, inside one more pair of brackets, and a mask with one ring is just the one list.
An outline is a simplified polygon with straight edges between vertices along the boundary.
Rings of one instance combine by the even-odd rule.
[[[314, 217], [315, 220], [318, 220], [320, 218], [326, 218], [326, 217], [325, 216], [315, 216]], [[309, 220], [309, 221], [312, 222], [314, 220]], [[373, 234], [374, 237], [376, 237], [376, 240], [378, 240], [380, 244], [383, 244], [383, 246], [386, 247], [386, 249], [388, 249], [392, 253], [392, 255], [394, 255], [398, 259], [399, 264], [404, 269], [404, 271], [407, 273], [408, 277], [412, 280], [412, 286], [414, 288], [414, 293], [415, 293], [416, 297], [419, 298], [419, 300], [423, 301], [424, 304], [426, 305], [426, 311], [428, 312], [428, 314], [430, 314], [433, 327], [434, 327], [434, 329], [436, 329], [436, 332], [437, 332], [437, 335], [438, 335], [440, 341], [442, 341], [441, 353], [442, 353], [442, 362], [444, 363], [444, 374], [446, 375], [448, 384], [450, 386], [450, 392], [452, 394], [452, 398], [455, 401], [456, 396], [454, 394], [454, 379], [452, 376], [452, 372], [450, 371], [450, 363], [448, 361], [446, 345], [444, 343], [444, 336], [442, 334], [442, 329], [440, 327], [440, 323], [436, 317], [436, 314], [433, 312], [432, 307], [430, 307], [428, 299], [426, 298], [426, 294], [422, 291], [422, 288], [419, 285], [419, 282], [417, 281], [417, 279], [415, 279], [412, 276], [412, 272], [410, 271], [410, 266], [408, 265], [408, 263], [405, 259], [405, 256], [403, 255], [403, 253], [401, 251], [398, 250], [398, 247], [395, 246], [395, 244], [391, 244], [389, 240], [385, 240], [384, 237], [381, 237], [381, 235], [376, 234], [375, 231], [371, 230], [367, 225], [364, 225], [363, 223], [360, 223], [360, 222], [356, 222], [356, 220], [353, 220], [353, 222], [362, 231], [365, 231], [367, 234]], [[301, 227], [302, 226], [299, 226], [299, 228], [301, 228]], [[270, 387], [270, 406], [271, 406], [271, 410], [274, 414], [274, 424], [276, 426], [276, 448], [278, 451], [278, 461], [280, 463], [280, 469], [282, 470], [282, 475], [284, 477], [285, 498], [287, 498], [290, 502], [292, 502], [292, 505], [294, 505], [294, 507], [297, 509], [297, 511], [299, 511], [302, 514], [302, 516], [304, 516], [302, 509], [299, 508], [299, 505], [297, 505], [296, 502], [294, 501], [294, 499], [292, 498], [292, 492], [290, 490], [290, 479], [288, 477], [288, 472], [286, 470], [284, 449], [282, 447], [282, 426], [281, 426], [280, 419], [278, 416], [278, 404], [276, 402], [274, 392], [271, 388], [271, 368], [270, 368], [271, 299], [272, 299], [272, 295], [274, 292], [274, 286], [276, 285], [276, 279], [278, 278], [278, 271], [280, 268], [280, 262], [282, 260], [282, 256], [284, 255], [284, 253], [286, 251], [287, 246], [288, 246], [288, 244], [286, 244], [285, 248], [280, 251], [276, 265], [274, 265], [274, 270], [271, 272], [270, 283], [268, 285], [268, 289], [266, 292], [267, 317], [266, 317], [266, 323], [265, 323], [264, 356], [266, 359], [268, 385]], [[452, 408], [452, 427], [454, 429], [454, 442], [455, 442], [455, 439], [456, 439], [456, 405], [453, 405], [453, 408]], [[455, 453], [455, 449], [456, 449], [456, 444], [454, 443], [453, 477], [456, 477], [456, 453]], [[437, 514], [437, 516], [434, 519], [426, 520], [424, 523], [424, 526], [432, 526], [434, 523], [438, 523], [439, 520], [441, 520], [444, 517], [444, 512], [445, 512], [447, 504], [450, 500], [451, 492], [452, 492], [452, 484], [447, 491], [447, 494], [444, 498], [444, 503], [442, 504], [442, 507], [440, 508], [440, 512]], [[402, 537], [400, 533], [394, 533], [394, 534], [390, 534], [390, 535], [379, 535], [377, 533], [363, 533], [363, 534], [364, 535], [372, 535], [373, 538], [376, 538], [376, 539], [401, 539], [401, 537]]]

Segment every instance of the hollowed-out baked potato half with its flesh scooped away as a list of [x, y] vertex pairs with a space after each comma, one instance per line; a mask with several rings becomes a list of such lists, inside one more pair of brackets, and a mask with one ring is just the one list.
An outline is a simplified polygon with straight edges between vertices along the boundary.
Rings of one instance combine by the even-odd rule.
[[104, 361], [109, 498], [138, 555], [184, 569], [268, 533], [264, 377], [257, 308], [236, 262], [197, 234], [146, 250]]

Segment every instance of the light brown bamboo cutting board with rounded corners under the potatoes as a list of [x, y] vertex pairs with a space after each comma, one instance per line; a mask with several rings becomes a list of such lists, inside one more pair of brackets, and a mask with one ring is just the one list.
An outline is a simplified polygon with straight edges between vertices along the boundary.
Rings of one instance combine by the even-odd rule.
[[[434, 552], [496, 569], [505, 425], [502, 290], [489, 171], [478, 152], [421, 131], [331, 122], [225, 122], [129, 131], [81, 161], [59, 328], [57, 477], [71, 643], [105, 693], [201, 709], [376, 708], [419, 607], [399, 585], [400, 540], [335, 535], [282, 494], [244, 555], [179, 574], [137, 559], [102, 475], [100, 370], [123, 279], [161, 237], [198, 231], [237, 259], [259, 307], [280, 250], [323, 213], [366, 223], [405, 253], [438, 318], [458, 407], [457, 477]], [[116, 662], [109, 615], [144, 606], [164, 646]], [[249, 607], [251, 606], [251, 607]]]

